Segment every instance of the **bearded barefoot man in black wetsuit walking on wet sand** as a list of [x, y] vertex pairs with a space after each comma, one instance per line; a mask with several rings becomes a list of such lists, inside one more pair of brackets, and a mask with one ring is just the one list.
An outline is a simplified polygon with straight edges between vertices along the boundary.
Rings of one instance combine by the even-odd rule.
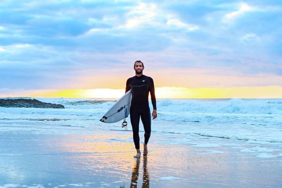
[[153, 104], [153, 119], [157, 118], [157, 107], [154, 81], [151, 77], [143, 75], [144, 64], [141, 61], [135, 61], [134, 63], [135, 76], [128, 78], [126, 81], [125, 92], [131, 89], [132, 100], [130, 106], [130, 122], [133, 131], [133, 141], [137, 151], [135, 158], [140, 158], [140, 144], [139, 144], [139, 121], [144, 126], [144, 155], [148, 154], [147, 144], [151, 135], [151, 117], [149, 108], [149, 91], [151, 94], [151, 100]]

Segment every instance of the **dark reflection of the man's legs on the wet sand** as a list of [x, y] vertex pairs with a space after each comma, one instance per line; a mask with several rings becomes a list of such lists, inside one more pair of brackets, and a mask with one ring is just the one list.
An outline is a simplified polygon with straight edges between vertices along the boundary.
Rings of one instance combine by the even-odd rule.
[[[139, 175], [140, 159], [136, 159], [136, 164], [132, 170], [130, 187], [137, 187], [137, 180]], [[143, 183], [142, 188], [149, 188], [149, 173], [147, 169], [147, 156], [143, 157]]]

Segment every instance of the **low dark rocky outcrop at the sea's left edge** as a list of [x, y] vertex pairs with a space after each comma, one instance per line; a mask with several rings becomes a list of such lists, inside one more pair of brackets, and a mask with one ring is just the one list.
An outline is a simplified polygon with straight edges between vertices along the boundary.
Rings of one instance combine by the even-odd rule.
[[46, 103], [36, 99], [0, 99], [0, 107], [65, 108], [61, 104]]

